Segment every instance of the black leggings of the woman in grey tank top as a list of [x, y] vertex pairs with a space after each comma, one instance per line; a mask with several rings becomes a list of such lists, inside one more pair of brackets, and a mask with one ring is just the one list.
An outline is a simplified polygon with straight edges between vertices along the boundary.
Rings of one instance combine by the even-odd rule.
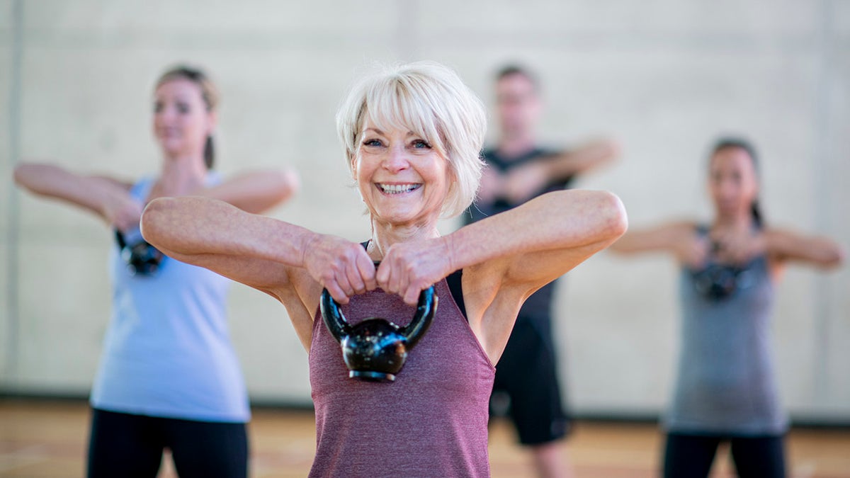
[[735, 471], [741, 478], [785, 478], [782, 435], [757, 437], [667, 434], [665, 478], [706, 478], [721, 441], [729, 441]]

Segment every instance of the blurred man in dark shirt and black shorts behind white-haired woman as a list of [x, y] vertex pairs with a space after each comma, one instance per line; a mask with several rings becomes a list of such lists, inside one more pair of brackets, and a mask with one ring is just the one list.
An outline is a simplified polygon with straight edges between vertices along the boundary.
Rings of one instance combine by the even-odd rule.
[[[500, 136], [484, 150], [479, 197], [462, 215], [466, 224], [516, 208], [547, 192], [570, 186], [579, 174], [611, 162], [618, 147], [598, 139], [566, 150], [543, 148], [536, 138], [541, 98], [536, 77], [516, 65], [496, 74], [496, 111]], [[507, 413], [530, 447], [538, 475], [570, 475], [559, 440], [570, 423], [558, 384], [558, 357], [553, 341], [555, 281], [525, 300], [505, 351], [496, 367], [490, 413]]]

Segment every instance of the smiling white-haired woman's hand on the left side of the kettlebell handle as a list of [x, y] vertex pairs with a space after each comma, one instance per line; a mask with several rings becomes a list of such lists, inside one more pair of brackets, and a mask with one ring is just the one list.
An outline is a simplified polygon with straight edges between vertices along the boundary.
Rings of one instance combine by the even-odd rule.
[[303, 253], [303, 265], [309, 275], [340, 304], [348, 304], [354, 294], [377, 288], [375, 263], [360, 244], [318, 234]]

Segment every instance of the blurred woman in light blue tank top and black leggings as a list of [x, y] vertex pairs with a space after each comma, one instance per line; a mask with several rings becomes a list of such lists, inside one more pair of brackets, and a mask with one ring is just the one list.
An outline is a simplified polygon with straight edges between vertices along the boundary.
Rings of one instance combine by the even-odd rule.
[[199, 70], [163, 74], [153, 129], [156, 176], [126, 184], [25, 163], [16, 182], [88, 209], [111, 226], [112, 316], [91, 394], [88, 476], [156, 476], [171, 450], [182, 477], [246, 476], [250, 419], [225, 316], [229, 280], [163, 256], [144, 242], [144, 205], [161, 196], [207, 196], [251, 213], [297, 187], [292, 172], [255, 171], [222, 183], [212, 168], [218, 94]]

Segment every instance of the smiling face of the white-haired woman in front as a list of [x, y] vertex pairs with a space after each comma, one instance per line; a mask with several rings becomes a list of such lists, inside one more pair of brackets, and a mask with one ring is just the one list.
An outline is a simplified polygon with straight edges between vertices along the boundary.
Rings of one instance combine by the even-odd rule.
[[421, 136], [363, 124], [354, 179], [372, 217], [392, 225], [436, 223], [453, 175]]

